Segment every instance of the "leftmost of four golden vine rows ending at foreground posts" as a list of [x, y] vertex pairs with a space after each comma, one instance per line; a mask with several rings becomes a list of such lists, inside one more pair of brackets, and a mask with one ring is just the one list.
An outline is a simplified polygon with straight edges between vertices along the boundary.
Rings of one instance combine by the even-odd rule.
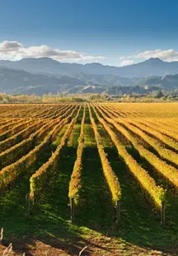
[[42, 165], [39, 170], [36, 171], [36, 173], [33, 174], [32, 177], [30, 177], [30, 197], [34, 197], [34, 195], [35, 197], [39, 197], [44, 189], [44, 186], [50, 181], [51, 175], [53, 175], [53, 172], [56, 170], [56, 165], [59, 160], [60, 152], [65, 146], [66, 141], [70, 136], [71, 131], [73, 130], [73, 126], [76, 123], [80, 110], [81, 107], [79, 108], [76, 116], [70, 122], [70, 125], [68, 125], [59, 146], [56, 148], [56, 151], [52, 154], [47, 163], [44, 163], [44, 165]]

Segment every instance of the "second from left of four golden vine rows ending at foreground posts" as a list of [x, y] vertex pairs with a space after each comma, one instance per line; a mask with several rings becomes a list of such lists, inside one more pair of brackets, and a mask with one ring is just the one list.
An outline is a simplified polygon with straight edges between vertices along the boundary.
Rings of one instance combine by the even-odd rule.
[[85, 147], [84, 137], [85, 137], [85, 108], [81, 122], [81, 131], [78, 140], [78, 148], [76, 151], [76, 162], [73, 167], [73, 173], [70, 178], [69, 183], [69, 193], [70, 198], [74, 198], [74, 203], [76, 206], [79, 204], [79, 191], [81, 189], [81, 171], [82, 171], [82, 153]]

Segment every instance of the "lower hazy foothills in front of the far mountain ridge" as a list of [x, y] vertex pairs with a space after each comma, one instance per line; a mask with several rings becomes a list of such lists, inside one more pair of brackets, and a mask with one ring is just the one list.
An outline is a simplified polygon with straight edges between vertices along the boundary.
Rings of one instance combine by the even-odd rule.
[[79, 73], [76, 76], [42, 75], [0, 67], [0, 92], [42, 95], [44, 93], [147, 93], [158, 88], [178, 88], [178, 74], [125, 78]]

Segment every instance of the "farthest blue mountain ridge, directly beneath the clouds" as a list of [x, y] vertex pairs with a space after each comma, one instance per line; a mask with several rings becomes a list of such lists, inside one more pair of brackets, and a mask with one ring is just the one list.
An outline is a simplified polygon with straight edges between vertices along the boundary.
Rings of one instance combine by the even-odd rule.
[[77, 63], [62, 63], [50, 58], [29, 58], [16, 62], [0, 61], [0, 66], [16, 68], [30, 73], [42, 73], [55, 76], [79, 76], [80, 73], [102, 75], [102, 76], [122, 76], [127, 78], [165, 76], [166, 74], [178, 73], [178, 62], [163, 62], [158, 58], [151, 58], [145, 62], [140, 62], [125, 67], [113, 67], [99, 63], [86, 65]]

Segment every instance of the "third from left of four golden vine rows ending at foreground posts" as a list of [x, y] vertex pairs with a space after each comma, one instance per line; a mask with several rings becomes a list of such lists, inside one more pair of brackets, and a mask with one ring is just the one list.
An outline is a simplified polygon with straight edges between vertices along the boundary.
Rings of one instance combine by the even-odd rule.
[[111, 194], [112, 194], [113, 204], [116, 205], [116, 201], [120, 200], [121, 196], [122, 196], [119, 181], [118, 181], [118, 178], [116, 177], [116, 174], [114, 174], [114, 172], [111, 168], [111, 165], [108, 161], [107, 155], [105, 154], [105, 150], [104, 150], [104, 147], [102, 145], [102, 140], [101, 140], [101, 137], [100, 137], [99, 132], [97, 130], [96, 122], [93, 119], [93, 116], [91, 114], [89, 105], [88, 105], [88, 109], [89, 109], [89, 114], [90, 114], [90, 122], [91, 122], [91, 125], [93, 127], [93, 131], [94, 131], [94, 135], [95, 135], [95, 139], [96, 139], [96, 144], [97, 144], [97, 148], [98, 148], [98, 151], [99, 151], [99, 157], [100, 157], [101, 162], [102, 162], [103, 173], [105, 175], [105, 179], [108, 183], [108, 186], [109, 186]]

